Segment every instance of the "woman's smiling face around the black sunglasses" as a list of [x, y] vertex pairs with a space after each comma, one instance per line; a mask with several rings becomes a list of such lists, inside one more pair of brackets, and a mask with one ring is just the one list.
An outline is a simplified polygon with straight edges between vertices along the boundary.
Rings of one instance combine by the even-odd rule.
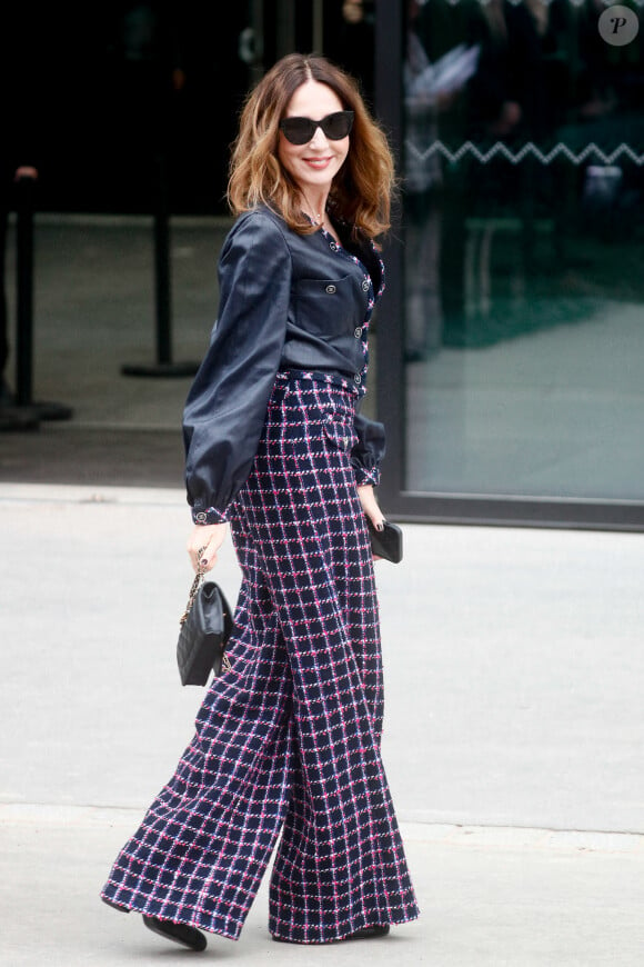
[[[344, 110], [338, 94], [319, 81], [301, 84], [286, 107], [285, 118], [311, 118], [321, 121], [326, 114]], [[291, 144], [280, 131], [278, 157], [304, 195], [329, 191], [349, 153], [349, 134], [341, 141], [330, 141], [322, 128], [306, 144]]]

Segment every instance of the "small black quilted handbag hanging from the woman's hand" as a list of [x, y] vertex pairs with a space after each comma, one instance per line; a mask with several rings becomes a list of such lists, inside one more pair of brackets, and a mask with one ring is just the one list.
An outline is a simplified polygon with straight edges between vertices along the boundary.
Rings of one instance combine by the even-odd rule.
[[177, 642], [181, 685], [205, 685], [210, 672], [230, 671], [225, 654], [232, 631], [232, 611], [218, 584], [198, 574], [192, 582]]

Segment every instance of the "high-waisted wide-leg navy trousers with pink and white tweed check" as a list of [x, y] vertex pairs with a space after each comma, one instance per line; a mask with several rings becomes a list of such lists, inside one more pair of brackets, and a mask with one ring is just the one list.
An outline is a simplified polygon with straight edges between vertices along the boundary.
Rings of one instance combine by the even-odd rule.
[[[102, 891], [237, 939], [275, 844], [269, 929], [326, 943], [417, 908], [380, 740], [373, 562], [350, 452], [355, 393], [279, 375], [231, 529], [232, 670]], [[280, 837], [281, 833], [281, 837]]]

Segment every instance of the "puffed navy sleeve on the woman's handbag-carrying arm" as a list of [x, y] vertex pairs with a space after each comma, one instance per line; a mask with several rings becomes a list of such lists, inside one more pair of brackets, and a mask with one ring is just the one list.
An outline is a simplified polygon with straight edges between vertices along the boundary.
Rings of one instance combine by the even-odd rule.
[[280, 367], [291, 276], [275, 222], [259, 211], [243, 216], [222, 250], [218, 320], [183, 413], [185, 487], [197, 524], [227, 519], [252, 467]]

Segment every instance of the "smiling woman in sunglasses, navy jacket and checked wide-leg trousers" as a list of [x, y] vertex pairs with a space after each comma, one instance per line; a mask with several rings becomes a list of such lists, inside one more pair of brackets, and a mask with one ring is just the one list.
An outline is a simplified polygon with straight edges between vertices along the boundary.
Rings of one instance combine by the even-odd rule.
[[383, 430], [356, 413], [392, 170], [354, 83], [324, 59], [289, 56], [251, 93], [218, 322], [184, 413], [192, 564], [213, 566], [228, 521], [243, 575], [232, 670], [102, 894], [193, 949], [199, 928], [239, 937], [280, 833], [276, 940], [417, 916], [380, 757], [365, 516], [382, 525]]

